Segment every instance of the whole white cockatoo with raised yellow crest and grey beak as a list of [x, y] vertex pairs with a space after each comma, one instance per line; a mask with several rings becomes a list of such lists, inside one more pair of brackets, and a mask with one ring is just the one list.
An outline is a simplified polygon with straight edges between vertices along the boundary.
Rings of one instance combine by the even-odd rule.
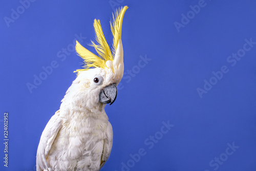
[[103, 35], [99, 20], [94, 20], [99, 56], [76, 41], [76, 52], [84, 59], [84, 69], [61, 100], [60, 109], [42, 132], [36, 155], [36, 170], [99, 170], [108, 160], [113, 131], [104, 108], [117, 96], [123, 76], [122, 20], [128, 7], [113, 14], [113, 48]]

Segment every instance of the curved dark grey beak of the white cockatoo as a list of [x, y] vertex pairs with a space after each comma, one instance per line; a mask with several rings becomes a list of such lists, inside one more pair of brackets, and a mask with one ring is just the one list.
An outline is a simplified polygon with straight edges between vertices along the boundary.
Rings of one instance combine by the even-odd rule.
[[116, 84], [110, 84], [109, 86], [104, 87], [99, 93], [99, 101], [101, 103], [114, 103], [117, 96]]

